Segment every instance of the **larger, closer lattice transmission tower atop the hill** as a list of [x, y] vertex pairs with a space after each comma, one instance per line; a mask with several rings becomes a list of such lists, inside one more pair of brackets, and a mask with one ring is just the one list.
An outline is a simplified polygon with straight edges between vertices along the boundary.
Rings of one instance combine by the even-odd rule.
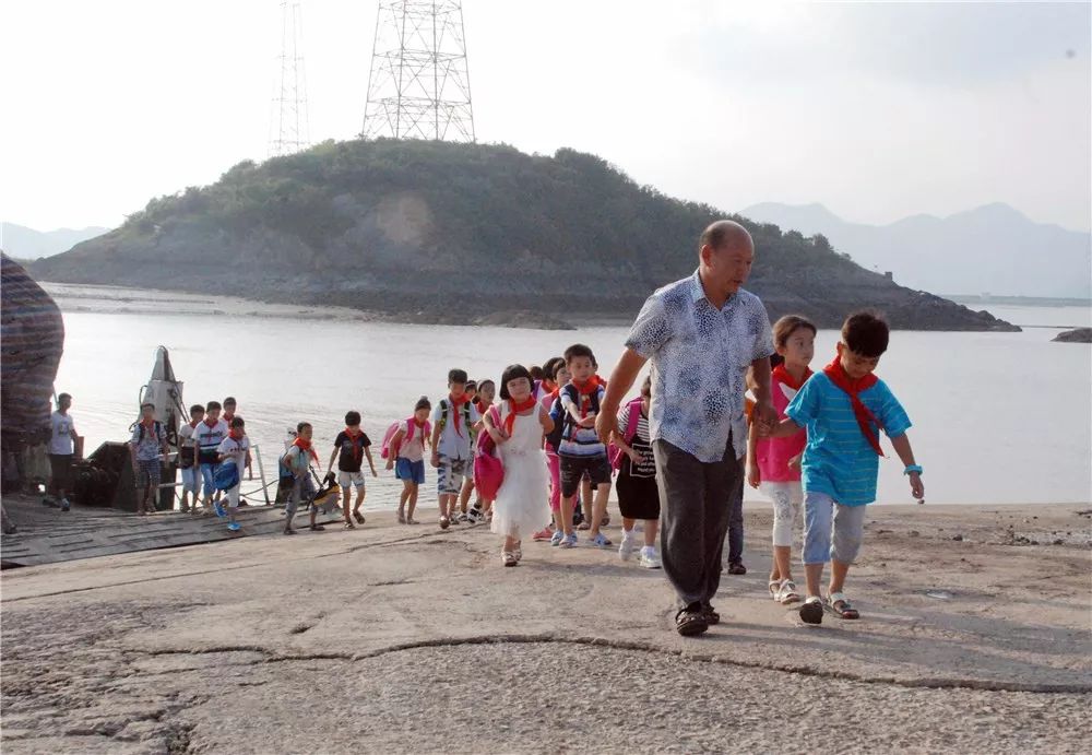
[[461, 2], [380, 1], [360, 135], [474, 141]]

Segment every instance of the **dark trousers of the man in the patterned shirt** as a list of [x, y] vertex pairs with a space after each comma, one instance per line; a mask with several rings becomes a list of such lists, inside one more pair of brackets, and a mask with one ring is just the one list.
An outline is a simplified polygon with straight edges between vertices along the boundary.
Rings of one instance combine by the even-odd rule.
[[[652, 445], [660, 485], [664, 574], [684, 605], [709, 603], [721, 586], [721, 556], [734, 500], [743, 500], [744, 465], [732, 438], [713, 463], [666, 440]], [[740, 530], [741, 532], [741, 530]]]

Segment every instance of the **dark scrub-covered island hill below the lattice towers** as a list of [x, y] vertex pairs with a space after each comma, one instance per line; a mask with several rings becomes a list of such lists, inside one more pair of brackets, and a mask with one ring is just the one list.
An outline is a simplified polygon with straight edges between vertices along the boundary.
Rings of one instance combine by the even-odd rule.
[[[324, 142], [149, 202], [110, 233], [31, 266], [40, 279], [354, 307], [442, 323], [630, 321], [691, 273], [697, 237], [731, 216], [638, 186], [569, 149]], [[747, 288], [771, 318], [836, 327], [862, 307], [895, 328], [1016, 330], [899, 286], [822, 236], [736, 217], [755, 237]]]

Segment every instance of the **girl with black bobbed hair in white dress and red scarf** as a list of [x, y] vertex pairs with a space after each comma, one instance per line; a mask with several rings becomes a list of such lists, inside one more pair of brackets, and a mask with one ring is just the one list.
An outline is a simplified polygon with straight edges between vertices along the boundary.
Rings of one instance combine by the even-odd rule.
[[549, 412], [532, 396], [531, 373], [522, 365], [505, 369], [500, 404], [484, 421], [505, 465], [505, 481], [492, 505], [492, 531], [505, 535], [500, 552], [505, 566], [523, 557], [520, 540], [549, 519], [546, 503], [546, 458], [543, 435], [554, 427]]

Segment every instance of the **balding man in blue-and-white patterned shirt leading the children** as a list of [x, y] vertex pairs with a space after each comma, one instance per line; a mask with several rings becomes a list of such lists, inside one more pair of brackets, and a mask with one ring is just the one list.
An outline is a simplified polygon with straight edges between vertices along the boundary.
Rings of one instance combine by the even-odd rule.
[[721, 583], [728, 516], [743, 500], [745, 375], [758, 384], [756, 421], [771, 427], [773, 339], [762, 302], [740, 286], [755, 260], [750, 234], [717, 221], [698, 243], [690, 278], [656, 291], [626, 339], [596, 418], [604, 441], [617, 433], [618, 405], [652, 361], [650, 430], [663, 503], [664, 573], [682, 607], [675, 626], [700, 635], [720, 622], [711, 600]]

